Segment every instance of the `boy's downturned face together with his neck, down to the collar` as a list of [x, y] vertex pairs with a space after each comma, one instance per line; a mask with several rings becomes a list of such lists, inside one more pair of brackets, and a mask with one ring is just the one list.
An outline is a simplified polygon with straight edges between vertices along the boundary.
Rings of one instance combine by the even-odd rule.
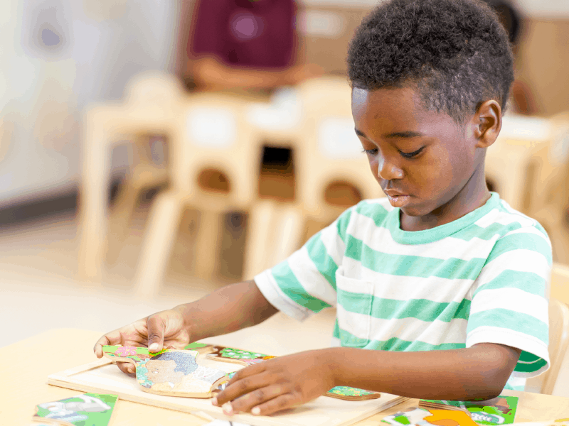
[[374, 177], [401, 209], [403, 229], [429, 229], [479, 207], [468, 205], [482, 190], [475, 171], [482, 168], [484, 179], [473, 126], [425, 109], [410, 87], [354, 88], [352, 114]]

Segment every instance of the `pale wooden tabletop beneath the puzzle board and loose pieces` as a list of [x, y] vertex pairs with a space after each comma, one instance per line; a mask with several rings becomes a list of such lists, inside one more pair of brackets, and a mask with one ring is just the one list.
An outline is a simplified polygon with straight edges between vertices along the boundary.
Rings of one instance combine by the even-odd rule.
[[[47, 376], [93, 361], [92, 346], [100, 336], [100, 332], [54, 329], [0, 349], [0, 424], [30, 425], [37, 404], [77, 395], [78, 391], [48, 385]], [[504, 394], [519, 396], [518, 422], [569, 417], [569, 398], [515, 391], [504, 391]], [[385, 415], [416, 407], [417, 403], [418, 400], [408, 400], [356, 425], [377, 426], [378, 420]], [[124, 400], [117, 402], [112, 417], [112, 426], [199, 426], [206, 423], [188, 413]]]

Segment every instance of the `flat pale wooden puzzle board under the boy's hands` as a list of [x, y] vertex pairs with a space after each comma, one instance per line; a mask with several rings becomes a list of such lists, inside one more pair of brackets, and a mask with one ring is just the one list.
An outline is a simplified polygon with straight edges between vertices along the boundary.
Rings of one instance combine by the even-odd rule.
[[[223, 371], [236, 371], [242, 366], [212, 360], [200, 364]], [[170, 410], [199, 415], [200, 412], [218, 419], [234, 420], [252, 426], [344, 426], [351, 425], [408, 398], [382, 393], [381, 398], [364, 401], [345, 401], [321, 396], [310, 403], [272, 416], [238, 414], [223, 415], [221, 408], [211, 405], [209, 399], [179, 398], [155, 395], [141, 391], [135, 378], [127, 376], [110, 359], [99, 359], [90, 364], [71, 368], [48, 376], [48, 383], [82, 392], [114, 393], [119, 399]]]

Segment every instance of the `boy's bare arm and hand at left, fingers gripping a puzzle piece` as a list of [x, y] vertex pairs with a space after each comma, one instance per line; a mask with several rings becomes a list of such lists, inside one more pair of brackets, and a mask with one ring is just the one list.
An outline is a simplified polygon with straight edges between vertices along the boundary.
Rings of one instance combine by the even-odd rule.
[[[105, 344], [182, 349], [205, 337], [235, 332], [251, 327], [275, 315], [277, 309], [250, 280], [220, 288], [196, 302], [156, 312], [102, 336], [95, 344], [95, 354], [102, 356]], [[130, 364], [117, 364], [125, 373], [133, 373]]]

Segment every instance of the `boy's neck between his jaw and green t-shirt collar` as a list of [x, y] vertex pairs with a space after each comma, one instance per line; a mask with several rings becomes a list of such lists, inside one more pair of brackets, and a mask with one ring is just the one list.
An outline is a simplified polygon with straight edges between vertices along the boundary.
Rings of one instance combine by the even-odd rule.
[[482, 161], [462, 190], [449, 202], [420, 217], [412, 217], [400, 212], [400, 228], [403, 231], [424, 231], [454, 222], [465, 214], [482, 207], [490, 197], [491, 194], [484, 177], [484, 161]]

